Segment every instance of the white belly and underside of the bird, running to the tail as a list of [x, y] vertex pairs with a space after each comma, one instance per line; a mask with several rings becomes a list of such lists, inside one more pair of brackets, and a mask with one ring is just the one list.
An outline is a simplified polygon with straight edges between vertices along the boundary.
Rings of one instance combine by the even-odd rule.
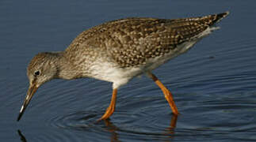
[[177, 57], [179, 54], [185, 53], [189, 50], [197, 41], [202, 37], [207, 36], [212, 30], [216, 28], [208, 28], [200, 35], [195, 37], [192, 41], [181, 43], [174, 50], [171, 50], [169, 54], [165, 54], [161, 57], [151, 58], [144, 65], [139, 65], [136, 67], [120, 68], [117, 64], [112, 62], [105, 62], [104, 60], [98, 59], [90, 67], [90, 77], [96, 78], [98, 80], [105, 80], [113, 82], [113, 88], [119, 88], [120, 86], [128, 83], [133, 77], [139, 76], [140, 74], [151, 72], [151, 70], [156, 69], [159, 65], [168, 62], [171, 58]]

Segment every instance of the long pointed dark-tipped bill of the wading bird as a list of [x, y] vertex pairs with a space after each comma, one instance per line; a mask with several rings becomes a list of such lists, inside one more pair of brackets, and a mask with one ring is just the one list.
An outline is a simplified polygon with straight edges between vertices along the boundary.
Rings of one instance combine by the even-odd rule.
[[36, 84], [32, 84], [31, 86], [29, 86], [29, 90], [27, 92], [24, 103], [21, 107], [20, 114], [17, 117], [17, 121], [19, 121], [21, 119], [22, 114], [25, 112], [26, 107], [29, 105], [29, 102], [32, 99], [32, 95], [35, 94], [36, 90], [37, 90]]

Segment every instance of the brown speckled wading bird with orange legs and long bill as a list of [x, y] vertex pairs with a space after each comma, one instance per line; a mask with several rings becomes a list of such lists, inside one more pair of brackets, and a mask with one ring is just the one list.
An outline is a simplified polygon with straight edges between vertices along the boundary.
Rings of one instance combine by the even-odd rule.
[[126, 18], [90, 28], [78, 35], [66, 50], [36, 54], [29, 63], [29, 90], [17, 121], [40, 85], [52, 79], [92, 77], [113, 83], [109, 107], [99, 120], [109, 118], [116, 106], [117, 89], [133, 77], [147, 74], [162, 89], [174, 115], [178, 109], [170, 91], [151, 70], [185, 53], [228, 15], [181, 19]]

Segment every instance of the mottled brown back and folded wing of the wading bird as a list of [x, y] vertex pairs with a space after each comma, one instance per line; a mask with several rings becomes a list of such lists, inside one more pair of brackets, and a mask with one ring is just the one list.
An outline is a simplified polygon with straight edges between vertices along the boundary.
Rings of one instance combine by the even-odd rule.
[[[227, 14], [176, 20], [127, 18], [110, 21], [82, 32], [66, 51], [84, 55], [86, 60], [103, 55], [120, 67], [142, 65], [150, 58], [170, 53], [179, 44], [197, 38]], [[76, 57], [70, 58], [76, 61]]]

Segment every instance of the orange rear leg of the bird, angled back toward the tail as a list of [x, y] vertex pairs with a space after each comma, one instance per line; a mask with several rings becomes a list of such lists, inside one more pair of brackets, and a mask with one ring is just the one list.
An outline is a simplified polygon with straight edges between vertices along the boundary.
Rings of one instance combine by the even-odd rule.
[[157, 77], [155, 77], [153, 73], [147, 73], [147, 75], [155, 81], [155, 84], [157, 84], [159, 88], [161, 88], [162, 93], [166, 97], [166, 100], [168, 101], [171, 110], [173, 111], [174, 114], [178, 115], [178, 109], [174, 103], [174, 98], [170, 91], [162, 84], [162, 82]]

